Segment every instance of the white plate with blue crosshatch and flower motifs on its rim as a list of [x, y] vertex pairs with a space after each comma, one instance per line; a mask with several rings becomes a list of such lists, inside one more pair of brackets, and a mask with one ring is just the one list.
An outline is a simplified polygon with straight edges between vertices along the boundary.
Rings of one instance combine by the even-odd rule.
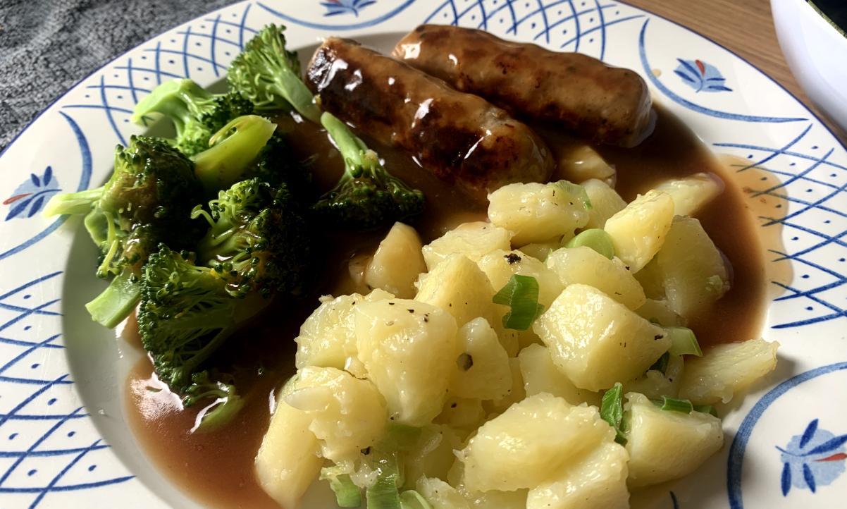
[[[0, 155], [0, 494], [3, 507], [197, 507], [147, 462], [121, 408], [138, 354], [91, 323], [93, 247], [50, 196], [98, 185], [113, 147], [144, 128], [133, 105], [163, 80], [212, 86], [268, 23], [290, 47], [341, 35], [386, 50], [423, 23], [579, 51], [635, 69], [715, 152], [761, 213], [772, 283], [761, 334], [778, 370], [734, 401], [727, 444], [700, 473], [639, 503], [656, 507], [840, 506], [847, 476], [847, 151], [777, 82], [714, 41], [613, 0], [260, 0], [204, 14], [81, 80]], [[307, 58], [308, 52], [301, 57]], [[736, 160], [738, 160], [736, 159]], [[756, 208], [761, 210], [761, 207]], [[778, 218], [778, 219], [773, 219]], [[774, 269], [774, 270], [771, 270]]]

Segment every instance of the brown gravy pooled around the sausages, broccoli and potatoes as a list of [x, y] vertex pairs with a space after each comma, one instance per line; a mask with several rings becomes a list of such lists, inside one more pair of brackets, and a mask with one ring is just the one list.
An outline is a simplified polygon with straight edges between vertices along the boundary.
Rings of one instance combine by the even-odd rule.
[[[598, 151], [617, 166], [617, 191], [627, 201], [663, 178], [701, 171], [722, 175], [727, 182], [726, 191], [698, 215], [732, 263], [733, 287], [709, 313], [695, 318], [690, 327], [703, 346], [757, 337], [767, 289], [763, 250], [752, 214], [747, 211], [751, 201], [728, 171], [728, 163], [718, 163], [672, 114], [661, 108], [658, 113], [656, 131], [639, 147], [598, 147]], [[282, 125], [291, 130], [292, 144], [304, 157], [318, 154], [318, 184], [329, 187], [340, 175], [343, 164], [326, 136], [312, 125]], [[567, 136], [548, 130], [540, 133], [554, 152], [573, 143]], [[404, 153], [385, 147], [378, 150], [392, 172], [426, 194], [427, 212], [415, 224], [424, 242], [464, 221], [484, 219], [483, 206], [473, 205], [459, 191], [418, 169]], [[313, 298], [296, 305], [275, 303], [262, 321], [230, 340], [221, 358], [233, 359], [239, 390], [248, 403], [227, 429], [190, 434], [197, 411], [180, 409], [178, 398], [152, 377], [152, 366], [146, 357], [136, 366], [128, 379], [128, 420], [142, 448], [169, 479], [208, 506], [278, 509], [253, 475], [253, 458], [269, 421], [268, 398], [294, 372], [293, 339], [302, 321], [318, 305], [316, 297], [351, 291], [349, 260], [357, 253], [372, 251], [384, 233], [338, 235], [333, 240], [334, 249], [329, 250], [335, 254], [324, 264]]]

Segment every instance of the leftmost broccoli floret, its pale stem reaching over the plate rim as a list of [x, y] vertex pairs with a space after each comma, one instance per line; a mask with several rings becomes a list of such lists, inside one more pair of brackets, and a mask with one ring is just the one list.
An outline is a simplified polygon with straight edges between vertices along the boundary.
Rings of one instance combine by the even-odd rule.
[[53, 196], [45, 215], [86, 213], [86, 230], [100, 248], [97, 276], [113, 278], [86, 304], [91, 318], [111, 328], [130, 315], [149, 253], [160, 242], [191, 247], [202, 235], [191, 221], [191, 207], [201, 201], [191, 160], [147, 136], [132, 136], [127, 147], [117, 147], [112, 176], [102, 187]]

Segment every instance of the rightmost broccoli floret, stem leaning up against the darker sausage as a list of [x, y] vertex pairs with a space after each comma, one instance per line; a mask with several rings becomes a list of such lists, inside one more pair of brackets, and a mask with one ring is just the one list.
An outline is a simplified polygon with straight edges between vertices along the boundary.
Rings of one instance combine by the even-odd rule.
[[423, 212], [424, 193], [388, 173], [377, 153], [346, 124], [331, 113], [321, 116], [321, 124], [344, 158], [344, 174], [312, 206], [320, 222], [335, 228], [368, 230]]

